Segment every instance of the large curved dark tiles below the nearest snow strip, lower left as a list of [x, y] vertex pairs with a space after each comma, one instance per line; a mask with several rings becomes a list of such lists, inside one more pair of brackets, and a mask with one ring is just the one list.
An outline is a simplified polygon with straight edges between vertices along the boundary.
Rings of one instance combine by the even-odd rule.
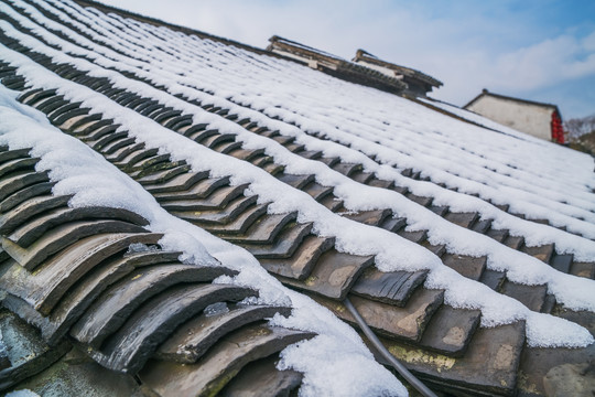
[[[36, 171], [40, 159], [29, 152], [7, 147], [0, 152], [2, 181], [10, 181], [1, 191], [0, 285], [6, 308], [37, 326], [43, 340], [35, 341], [40, 354], [6, 369], [4, 388], [51, 365], [42, 360], [44, 348], [67, 344], [65, 335], [86, 345], [101, 366], [125, 374], [142, 377], [163, 365], [188, 364], [201, 374], [192, 386], [209, 393], [225, 386], [221, 377], [241, 368], [241, 360], [274, 355], [314, 336], [262, 325], [266, 318], [289, 315], [291, 308], [242, 304], [258, 290], [214, 282], [235, 275], [224, 266], [181, 261], [183, 253], [164, 249], [164, 235], [148, 230], [142, 216], [109, 206], [68, 206], [72, 195], [52, 194], [54, 183], [47, 172]], [[224, 309], [209, 315], [214, 305]], [[245, 357], [236, 358], [235, 344], [241, 344]], [[166, 364], [147, 364], [152, 356]], [[301, 383], [299, 373], [277, 373], [268, 365], [267, 376], [283, 377], [292, 387]]]

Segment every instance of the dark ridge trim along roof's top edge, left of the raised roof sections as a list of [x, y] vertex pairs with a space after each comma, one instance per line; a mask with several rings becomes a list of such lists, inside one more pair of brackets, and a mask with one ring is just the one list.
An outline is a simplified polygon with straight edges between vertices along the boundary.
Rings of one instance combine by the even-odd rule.
[[165, 21], [162, 21], [162, 20], [156, 19], [156, 18], [141, 15], [141, 14], [134, 13], [132, 11], [127, 11], [127, 10], [122, 10], [120, 8], [117, 8], [117, 7], [104, 4], [104, 3], [98, 2], [98, 1], [94, 1], [94, 0], [73, 0], [73, 1], [76, 2], [77, 4], [79, 4], [80, 7], [93, 7], [93, 8], [96, 8], [99, 11], [102, 11], [105, 13], [113, 12], [113, 13], [117, 13], [117, 14], [119, 14], [121, 17], [131, 18], [131, 19], [134, 19], [134, 20], [140, 21], [140, 22], [150, 23], [150, 24], [155, 25], [155, 26], [166, 26], [166, 28], [170, 28], [170, 29], [172, 29], [174, 31], [178, 31], [178, 32], [182, 32], [182, 33], [191, 34], [191, 35], [196, 35], [196, 36], [198, 36], [201, 39], [209, 39], [209, 40], [220, 42], [220, 43], [224, 43], [224, 44], [227, 44], [227, 45], [234, 45], [236, 47], [239, 47], [239, 49], [242, 49], [242, 50], [248, 50], [248, 51], [251, 51], [251, 52], [260, 54], [260, 55], [268, 55], [268, 56], [273, 56], [273, 57], [277, 57], [277, 58], [286, 60], [285, 56], [281, 56], [279, 54], [271, 53], [271, 52], [269, 52], [267, 50], [263, 50], [263, 49], [259, 49], [259, 47], [255, 47], [255, 46], [251, 46], [251, 45], [248, 45], [248, 44], [244, 44], [244, 43], [237, 42], [235, 40], [220, 37], [220, 36], [214, 35], [214, 34], [209, 34], [209, 33], [205, 33], [205, 32], [202, 32], [202, 31], [198, 31], [198, 30], [195, 30], [195, 29], [191, 29], [191, 28], [177, 25], [177, 24], [174, 24], [174, 23], [165, 22]]

